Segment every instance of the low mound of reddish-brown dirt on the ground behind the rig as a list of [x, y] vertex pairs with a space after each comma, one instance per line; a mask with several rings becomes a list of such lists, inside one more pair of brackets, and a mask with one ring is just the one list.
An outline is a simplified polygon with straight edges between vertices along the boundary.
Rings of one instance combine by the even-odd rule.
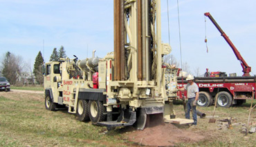
[[202, 139], [205, 137], [177, 128], [173, 124], [161, 124], [129, 133], [130, 141], [144, 146], [174, 146], [177, 143], [197, 142]]

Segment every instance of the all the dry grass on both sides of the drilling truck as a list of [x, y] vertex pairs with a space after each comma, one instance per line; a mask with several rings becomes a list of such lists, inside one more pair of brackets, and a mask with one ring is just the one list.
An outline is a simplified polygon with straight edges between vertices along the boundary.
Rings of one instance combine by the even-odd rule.
[[[233, 117], [246, 124], [250, 101], [240, 107], [217, 108], [219, 117]], [[256, 104], [256, 102], [254, 102]], [[78, 121], [67, 110], [55, 112], [45, 110], [44, 95], [18, 92], [0, 92], [0, 146], [136, 146], [125, 138], [126, 133], [93, 126], [91, 122]], [[183, 106], [174, 105], [177, 117], [184, 117]], [[198, 108], [212, 115], [212, 107]], [[256, 122], [255, 110], [252, 120]], [[198, 126], [187, 129], [205, 140], [177, 146], [255, 146], [255, 134], [244, 137], [239, 132], [241, 126], [232, 130], [218, 130], [216, 124], [208, 124], [209, 119], [199, 119]]]

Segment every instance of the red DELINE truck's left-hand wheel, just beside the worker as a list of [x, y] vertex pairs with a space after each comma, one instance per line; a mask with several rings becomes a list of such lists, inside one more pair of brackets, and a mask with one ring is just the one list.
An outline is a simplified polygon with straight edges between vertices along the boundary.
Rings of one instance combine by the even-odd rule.
[[208, 107], [212, 105], [212, 96], [208, 92], [199, 92], [199, 99], [197, 101], [197, 106]]

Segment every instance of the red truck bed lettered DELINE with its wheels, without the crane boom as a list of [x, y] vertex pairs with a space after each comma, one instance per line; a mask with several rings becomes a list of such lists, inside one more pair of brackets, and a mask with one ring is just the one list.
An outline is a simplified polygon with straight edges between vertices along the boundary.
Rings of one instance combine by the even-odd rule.
[[[232, 104], [241, 105], [246, 99], [252, 99], [256, 88], [256, 77], [195, 77], [194, 81], [199, 86], [198, 106], [211, 106], [217, 99], [219, 107], [229, 108]], [[178, 78], [179, 88], [186, 85], [186, 81]], [[218, 97], [216, 97], [219, 93]], [[179, 98], [183, 95], [178, 93]], [[184, 92], [184, 97], [186, 92]], [[253, 97], [255, 98], [255, 97]]]

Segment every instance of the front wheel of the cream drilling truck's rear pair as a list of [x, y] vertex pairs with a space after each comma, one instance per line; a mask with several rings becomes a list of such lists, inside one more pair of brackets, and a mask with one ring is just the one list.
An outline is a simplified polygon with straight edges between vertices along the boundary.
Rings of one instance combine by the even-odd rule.
[[76, 116], [80, 121], [89, 121], [88, 101], [84, 99], [78, 99]]

